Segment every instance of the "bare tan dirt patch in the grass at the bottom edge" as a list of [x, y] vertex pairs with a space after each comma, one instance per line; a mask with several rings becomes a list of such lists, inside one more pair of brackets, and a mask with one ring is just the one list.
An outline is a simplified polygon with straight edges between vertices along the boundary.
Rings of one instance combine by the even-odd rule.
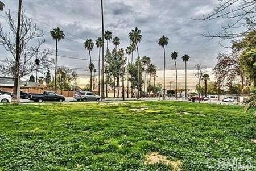
[[181, 160], [168, 160], [166, 156], [160, 155], [158, 152], [152, 152], [146, 155], [145, 157], [145, 164], [163, 163], [166, 165], [171, 165], [174, 171], [181, 171]]

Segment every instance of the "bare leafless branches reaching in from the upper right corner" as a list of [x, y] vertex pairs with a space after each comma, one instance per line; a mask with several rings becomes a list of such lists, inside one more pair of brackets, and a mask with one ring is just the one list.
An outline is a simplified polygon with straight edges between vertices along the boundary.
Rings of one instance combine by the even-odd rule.
[[222, 31], [215, 34], [208, 32], [208, 37], [220, 37], [221, 39], [234, 39], [245, 36], [247, 32], [256, 28], [256, 1], [255, 0], [220, 0], [213, 12], [201, 19], [194, 20], [215, 20], [224, 18], [227, 20], [221, 26]]

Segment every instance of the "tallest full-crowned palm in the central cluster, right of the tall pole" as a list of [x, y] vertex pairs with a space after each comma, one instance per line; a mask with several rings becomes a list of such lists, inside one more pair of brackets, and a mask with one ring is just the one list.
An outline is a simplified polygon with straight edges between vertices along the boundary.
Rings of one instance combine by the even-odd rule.
[[[141, 42], [142, 39], [142, 35], [141, 35], [141, 30], [138, 29], [138, 27], [135, 27], [135, 30], [131, 30], [131, 32], [129, 32], [129, 39], [132, 43], [134, 43], [136, 45], [137, 48], [137, 60], [139, 61], [139, 49], [138, 49], [138, 43]], [[137, 80], [137, 99], [139, 98], [139, 91], [140, 91], [140, 87], [139, 87], [139, 62], [138, 62], [138, 80]]]

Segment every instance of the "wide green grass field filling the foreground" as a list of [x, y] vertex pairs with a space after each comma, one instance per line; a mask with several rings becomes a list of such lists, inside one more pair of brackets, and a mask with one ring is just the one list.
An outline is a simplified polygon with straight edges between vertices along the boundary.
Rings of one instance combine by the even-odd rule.
[[[220, 158], [256, 166], [253, 112], [160, 101], [0, 105], [0, 170], [224, 170]], [[152, 164], [152, 153], [166, 162]]]

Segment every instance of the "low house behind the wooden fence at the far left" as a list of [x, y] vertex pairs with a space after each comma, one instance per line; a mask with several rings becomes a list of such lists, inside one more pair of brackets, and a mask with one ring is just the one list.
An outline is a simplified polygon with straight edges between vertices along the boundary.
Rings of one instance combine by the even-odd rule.
[[[13, 77], [0, 77], [0, 88], [12, 89], [13, 87], [14, 87]], [[42, 86], [38, 82], [20, 81], [20, 87], [37, 89]]]

